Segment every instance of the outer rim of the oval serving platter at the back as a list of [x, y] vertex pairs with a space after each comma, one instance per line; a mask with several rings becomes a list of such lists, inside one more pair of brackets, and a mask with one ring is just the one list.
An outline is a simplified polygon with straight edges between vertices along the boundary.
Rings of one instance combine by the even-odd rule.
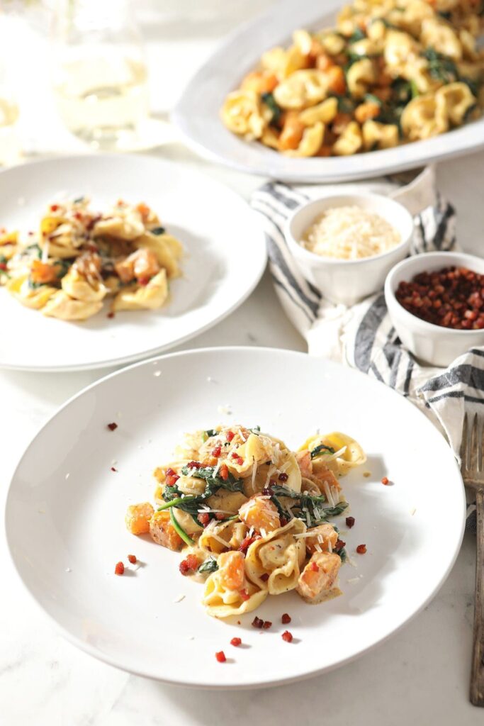
[[[300, 0], [301, 2], [301, 0]], [[308, 0], [302, 0], [302, 2], [308, 2]], [[328, 2], [328, 0], [327, 0]], [[310, 3], [312, 5], [312, 3]], [[411, 147], [417, 149], [421, 148], [420, 144], [425, 144], [424, 146], [424, 152], [419, 155], [419, 158], [413, 158], [414, 155], [410, 155], [410, 158], [407, 158], [407, 155], [403, 152], [401, 154], [401, 158], [398, 161], [395, 161], [394, 163], [380, 163], [377, 165], [377, 168], [370, 168], [369, 170], [364, 169], [364, 163], [361, 164], [361, 168], [358, 171], [343, 171], [343, 172], [327, 172], [324, 171], [324, 167], [322, 171], [311, 171], [311, 169], [308, 168], [308, 170], [304, 171], [291, 171], [288, 169], [285, 171], [282, 168], [279, 168], [279, 162], [283, 158], [285, 163], [291, 164], [291, 166], [295, 166], [295, 163], [300, 163], [301, 161], [310, 161], [308, 159], [289, 159], [282, 157], [282, 155], [274, 155], [274, 162], [276, 164], [276, 167], [273, 168], [271, 164], [271, 160], [268, 159], [267, 162], [261, 158], [260, 163], [258, 163], [257, 166], [250, 166], [247, 163], [244, 163], [243, 161], [239, 161], [237, 159], [230, 158], [229, 155], [226, 155], [223, 153], [222, 149], [214, 149], [211, 147], [211, 145], [206, 145], [200, 137], [197, 137], [196, 134], [192, 133], [192, 129], [190, 127], [190, 114], [188, 113], [188, 110], [191, 105], [191, 97], [193, 95], [194, 89], [200, 88], [201, 85], [205, 84], [205, 78], [207, 76], [207, 70], [212, 69], [213, 67], [218, 67], [220, 63], [218, 61], [221, 61], [223, 57], [226, 56], [226, 52], [231, 49], [231, 46], [234, 44], [238, 44], [240, 42], [241, 38], [244, 38], [247, 33], [250, 33], [251, 31], [259, 28], [259, 26], [263, 25], [263, 23], [266, 23], [268, 20], [273, 20], [274, 17], [277, 15], [284, 15], [284, 12], [292, 9], [293, 3], [292, 0], [282, 0], [279, 4], [275, 4], [274, 6], [270, 7], [266, 12], [262, 12], [259, 15], [257, 15], [253, 20], [249, 20], [246, 23], [242, 23], [239, 25], [239, 27], [234, 30], [232, 33], [229, 33], [228, 36], [223, 38], [220, 44], [216, 47], [216, 49], [213, 51], [213, 53], [210, 54], [210, 56], [202, 63], [200, 68], [197, 69], [197, 71], [189, 78], [188, 83], [186, 83], [186, 86], [184, 87], [184, 90], [182, 91], [179, 99], [176, 102], [175, 107], [171, 111], [170, 118], [173, 124], [176, 126], [176, 128], [179, 130], [181, 136], [183, 137], [184, 143], [192, 149], [197, 155], [200, 155], [202, 158], [205, 158], [207, 160], [210, 160], [212, 162], [221, 164], [223, 166], [226, 166], [228, 168], [236, 169], [237, 171], [245, 172], [245, 174], [254, 174], [255, 176], [266, 176], [271, 179], [279, 179], [280, 181], [287, 181], [289, 183], [325, 183], [325, 184], [336, 184], [341, 181], [357, 181], [358, 179], [372, 179], [377, 176], [382, 176], [385, 174], [395, 174], [400, 171], [406, 171], [413, 168], [418, 168], [419, 166], [426, 166], [427, 164], [434, 163], [437, 161], [443, 161], [448, 160], [451, 158], [456, 158], [459, 156], [465, 156], [472, 154], [473, 152], [477, 152], [479, 150], [484, 149], [484, 117], [481, 117], [480, 120], [475, 121], [474, 123], [480, 123], [480, 126], [478, 126], [478, 130], [480, 130], [480, 139], [472, 139], [472, 144], [467, 144], [466, 146], [458, 146], [456, 148], [455, 142], [453, 142], [453, 139], [455, 139], [454, 134], [456, 132], [463, 132], [468, 131], [469, 129], [476, 128], [474, 123], [466, 124], [464, 126], [459, 127], [458, 129], [454, 129], [453, 131], [447, 131], [445, 134], [440, 134], [438, 136], [433, 136], [430, 139], [421, 139], [417, 142], [411, 142], [411, 144], [403, 144], [400, 147], [395, 147], [394, 149], [390, 150], [379, 150], [377, 152], [372, 152], [375, 154], [387, 154], [388, 152], [395, 152], [395, 150], [405, 150], [410, 145]], [[321, 18], [321, 22], [324, 20], [325, 17], [328, 15], [334, 14], [337, 12], [340, 7], [343, 7], [340, 0], [330, 0], [330, 7], [327, 7], [327, 9], [321, 9], [319, 12], [319, 17]], [[308, 25], [313, 25], [313, 23], [318, 22], [317, 20], [308, 21]], [[295, 30], [297, 27], [297, 20], [291, 20], [292, 28]], [[302, 25], [305, 25], [303, 22]], [[277, 44], [279, 41], [276, 39], [272, 41], [273, 44]], [[269, 43], [267, 44], [268, 47]], [[267, 49], [267, 48], [266, 48]], [[256, 62], [256, 61], [255, 61]], [[219, 123], [221, 124], [221, 129], [226, 131], [225, 127], [219, 120]], [[469, 134], [472, 134], [472, 131], [468, 131]], [[451, 136], [449, 136], [451, 134]], [[477, 133], [474, 134], [477, 136]], [[233, 135], [235, 136], [235, 135]], [[236, 139], [240, 140], [238, 136], [235, 137]], [[439, 152], [432, 152], [432, 142], [438, 143], [441, 139], [447, 139], [446, 148], [444, 150], [440, 150]], [[427, 150], [427, 144], [431, 144], [430, 150]], [[257, 142], [245, 142], [245, 144], [250, 147], [251, 144], [255, 144]], [[263, 150], [261, 150], [261, 154], [263, 153]], [[367, 157], [367, 155], [353, 155], [352, 157], [346, 157], [347, 159], [354, 159], [354, 158], [360, 158], [360, 157]], [[343, 157], [344, 159], [345, 157]], [[373, 156], [373, 158], [376, 158]], [[380, 156], [380, 158], [382, 158]], [[340, 158], [341, 159], [341, 158]], [[324, 163], [324, 159], [319, 160], [319, 163]], [[265, 165], [265, 166], [264, 166]]]

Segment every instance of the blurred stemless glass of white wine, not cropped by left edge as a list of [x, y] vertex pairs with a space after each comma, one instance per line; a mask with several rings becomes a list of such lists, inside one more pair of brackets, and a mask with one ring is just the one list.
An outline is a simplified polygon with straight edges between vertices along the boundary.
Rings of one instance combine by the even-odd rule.
[[149, 116], [141, 33], [128, 0], [59, 0], [54, 97], [75, 136], [103, 150], [140, 145]]

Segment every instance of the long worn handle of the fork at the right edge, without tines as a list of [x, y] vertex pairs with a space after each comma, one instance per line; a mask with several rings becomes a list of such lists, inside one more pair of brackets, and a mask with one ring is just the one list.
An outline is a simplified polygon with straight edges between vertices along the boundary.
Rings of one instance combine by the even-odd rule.
[[477, 489], [477, 560], [475, 564], [474, 650], [470, 700], [484, 706], [484, 490]]

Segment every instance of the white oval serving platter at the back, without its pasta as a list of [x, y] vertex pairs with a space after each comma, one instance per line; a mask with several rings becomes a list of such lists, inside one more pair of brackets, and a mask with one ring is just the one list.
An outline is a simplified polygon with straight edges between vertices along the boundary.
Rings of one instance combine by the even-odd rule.
[[282, 181], [334, 183], [424, 166], [484, 147], [484, 118], [432, 139], [394, 149], [335, 158], [288, 158], [258, 142], [247, 142], [223, 126], [223, 99], [259, 63], [266, 50], [290, 44], [293, 30], [334, 25], [341, 1], [283, 0], [257, 20], [242, 25], [197, 70], [184, 90], [173, 120], [186, 142], [202, 156], [239, 171]]

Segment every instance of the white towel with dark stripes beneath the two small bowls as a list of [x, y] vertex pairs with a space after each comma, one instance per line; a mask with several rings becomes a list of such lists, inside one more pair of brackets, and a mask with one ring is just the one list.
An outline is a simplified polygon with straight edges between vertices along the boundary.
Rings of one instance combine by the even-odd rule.
[[[284, 240], [284, 223], [300, 204], [332, 187], [293, 187], [279, 181], [253, 193], [261, 216], [276, 293], [287, 316], [308, 341], [308, 352], [343, 362], [377, 378], [420, 407], [445, 434], [459, 458], [464, 413], [484, 415], [484, 348], [468, 351], [448, 368], [420, 364], [401, 344], [387, 313], [383, 292], [347, 308], [329, 303], [305, 280]], [[435, 187], [435, 170], [338, 184], [336, 192], [369, 191], [397, 199], [414, 215], [411, 254], [451, 250], [456, 245], [456, 213]], [[475, 526], [469, 502], [468, 524]]]

